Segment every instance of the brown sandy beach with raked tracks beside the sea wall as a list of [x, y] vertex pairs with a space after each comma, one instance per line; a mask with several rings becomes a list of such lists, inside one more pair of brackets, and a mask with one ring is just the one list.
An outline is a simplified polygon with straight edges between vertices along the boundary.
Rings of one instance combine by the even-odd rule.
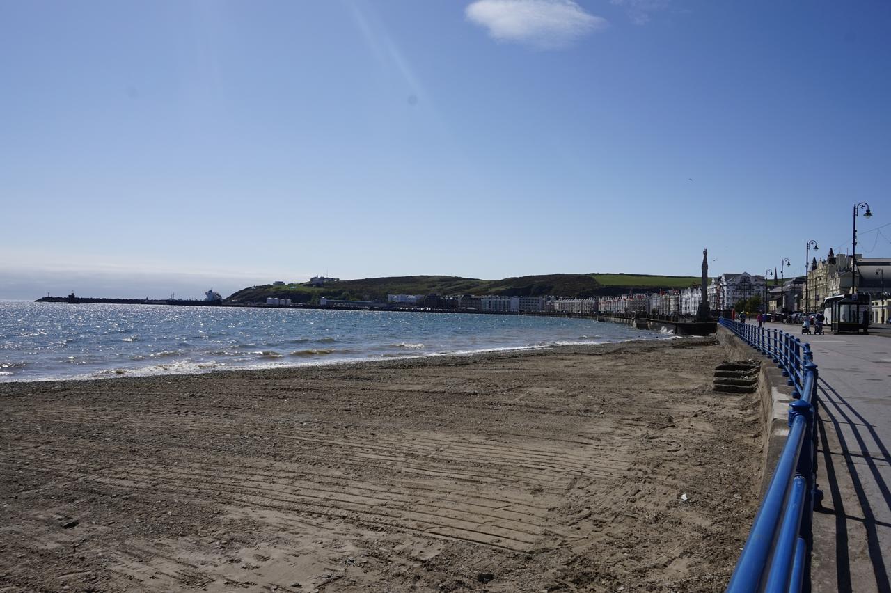
[[[0, 591], [723, 590], [709, 339], [0, 385]], [[624, 587], [624, 589], [619, 589]]]

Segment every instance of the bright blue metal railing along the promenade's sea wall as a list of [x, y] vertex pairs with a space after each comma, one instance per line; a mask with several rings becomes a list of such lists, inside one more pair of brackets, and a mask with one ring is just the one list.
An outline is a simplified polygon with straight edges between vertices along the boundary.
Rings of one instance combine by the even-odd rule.
[[770, 358], [788, 377], [789, 436], [748, 533], [727, 591], [811, 590], [813, 505], [817, 490], [817, 366], [811, 346], [780, 329], [720, 318], [718, 323]]

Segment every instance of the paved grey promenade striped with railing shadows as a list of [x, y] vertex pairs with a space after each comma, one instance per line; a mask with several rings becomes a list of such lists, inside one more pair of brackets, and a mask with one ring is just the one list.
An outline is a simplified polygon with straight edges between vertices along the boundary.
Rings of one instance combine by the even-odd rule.
[[819, 369], [813, 591], [891, 592], [891, 331], [802, 336]]

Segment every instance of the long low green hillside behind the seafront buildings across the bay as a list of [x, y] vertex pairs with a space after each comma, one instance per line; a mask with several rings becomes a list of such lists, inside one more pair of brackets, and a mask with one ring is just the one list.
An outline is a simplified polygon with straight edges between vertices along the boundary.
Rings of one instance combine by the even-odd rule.
[[504, 296], [577, 296], [615, 295], [631, 288], [658, 290], [683, 288], [697, 279], [687, 276], [650, 276], [646, 274], [546, 274], [520, 276], [503, 280], [478, 280], [459, 276], [393, 276], [341, 280], [315, 288], [307, 284], [256, 286], [243, 288], [226, 300], [261, 303], [268, 296], [290, 298], [298, 303], [316, 303], [319, 297], [352, 300], [385, 300], [387, 295], [504, 295]]

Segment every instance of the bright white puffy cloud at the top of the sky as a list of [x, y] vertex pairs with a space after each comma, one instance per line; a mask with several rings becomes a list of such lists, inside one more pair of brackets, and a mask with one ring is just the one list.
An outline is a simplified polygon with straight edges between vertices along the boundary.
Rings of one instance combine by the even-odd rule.
[[584, 12], [571, 0], [477, 0], [464, 13], [499, 41], [543, 49], [565, 47], [607, 25], [606, 19]]

